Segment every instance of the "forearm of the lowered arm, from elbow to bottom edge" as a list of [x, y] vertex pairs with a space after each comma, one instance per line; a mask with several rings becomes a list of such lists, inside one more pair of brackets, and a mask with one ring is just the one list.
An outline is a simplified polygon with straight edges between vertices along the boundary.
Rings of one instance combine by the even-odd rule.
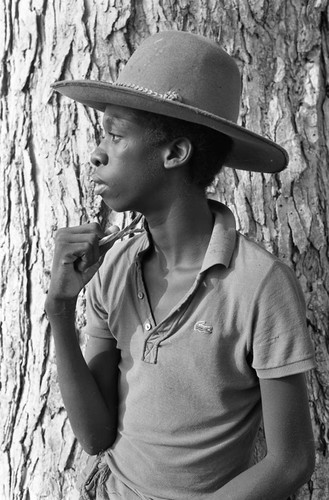
[[266, 456], [218, 490], [214, 500], [285, 500], [308, 480], [303, 464]]

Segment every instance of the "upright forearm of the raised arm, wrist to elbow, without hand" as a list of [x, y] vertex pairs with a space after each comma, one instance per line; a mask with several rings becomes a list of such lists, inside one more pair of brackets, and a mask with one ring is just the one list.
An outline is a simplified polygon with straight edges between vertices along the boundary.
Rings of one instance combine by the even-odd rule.
[[55, 342], [58, 382], [75, 436], [83, 449], [96, 454], [116, 437], [116, 396], [107, 407], [82, 355], [75, 330], [75, 302], [66, 301], [46, 310]]

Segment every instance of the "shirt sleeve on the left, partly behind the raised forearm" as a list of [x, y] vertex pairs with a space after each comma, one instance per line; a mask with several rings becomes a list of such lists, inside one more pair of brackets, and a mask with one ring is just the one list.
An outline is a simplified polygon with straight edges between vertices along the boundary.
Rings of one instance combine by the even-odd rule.
[[103, 305], [102, 286], [97, 272], [87, 286], [85, 334], [98, 338], [113, 338], [108, 324], [108, 313]]

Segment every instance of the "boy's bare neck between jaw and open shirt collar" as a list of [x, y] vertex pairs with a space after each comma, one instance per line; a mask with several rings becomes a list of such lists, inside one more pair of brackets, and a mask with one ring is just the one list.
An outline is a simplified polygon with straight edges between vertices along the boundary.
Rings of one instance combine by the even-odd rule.
[[169, 207], [146, 218], [153, 241], [153, 257], [169, 269], [200, 266], [213, 227], [213, 217], [203, 194], [179, 196]]

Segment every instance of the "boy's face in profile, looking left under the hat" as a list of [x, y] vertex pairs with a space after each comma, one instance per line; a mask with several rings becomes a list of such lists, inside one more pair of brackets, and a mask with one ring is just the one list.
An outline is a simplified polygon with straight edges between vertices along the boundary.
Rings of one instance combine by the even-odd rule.
[[104, 136], [91, 155], [95, 193], [117, 212], [145, 213], [165, 184], [162, 149], [146, 140], [147, 128], [138, 111], [108, 105]]

